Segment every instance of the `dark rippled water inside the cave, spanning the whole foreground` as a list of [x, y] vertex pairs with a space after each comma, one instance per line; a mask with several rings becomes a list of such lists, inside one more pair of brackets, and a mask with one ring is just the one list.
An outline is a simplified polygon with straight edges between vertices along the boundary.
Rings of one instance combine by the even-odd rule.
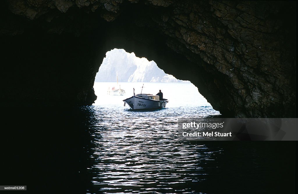
[[29, 193], [294, 193], [295, 142], [180, 141], [177, 110], [2, 111], [1, 185]]

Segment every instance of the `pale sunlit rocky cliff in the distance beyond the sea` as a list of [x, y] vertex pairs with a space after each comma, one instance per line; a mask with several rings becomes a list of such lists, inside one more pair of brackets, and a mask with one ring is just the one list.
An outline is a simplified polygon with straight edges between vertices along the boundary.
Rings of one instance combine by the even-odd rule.
[[182, 82], [173, 75], [166, 74], [154, 61], [138, 58], [123, 49], [113, 49], [106, 53], [95, 81], [115, 82]]

